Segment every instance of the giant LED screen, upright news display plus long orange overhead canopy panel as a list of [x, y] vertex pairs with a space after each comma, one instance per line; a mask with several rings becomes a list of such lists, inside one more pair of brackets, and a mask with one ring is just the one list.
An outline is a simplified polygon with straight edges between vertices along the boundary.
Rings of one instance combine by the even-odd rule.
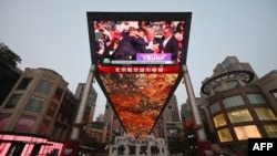
[[182, 79], [191, 12], [88, 12], [96, 81], [129, 135], [151, 133]]

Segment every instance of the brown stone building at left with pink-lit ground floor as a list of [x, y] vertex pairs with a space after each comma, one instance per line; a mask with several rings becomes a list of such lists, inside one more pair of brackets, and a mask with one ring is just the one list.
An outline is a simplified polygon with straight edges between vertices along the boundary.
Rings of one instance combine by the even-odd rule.
[[27, 67], [0, 106], [0, 155], [60, 154], [78, 106], [60, 74]]

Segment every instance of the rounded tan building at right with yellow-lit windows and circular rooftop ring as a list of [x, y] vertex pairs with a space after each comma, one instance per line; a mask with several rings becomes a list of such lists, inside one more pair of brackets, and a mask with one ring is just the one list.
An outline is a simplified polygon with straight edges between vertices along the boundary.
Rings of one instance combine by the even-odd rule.
[[247, 156], [247, 139], [277, 137], [276, 71], [258, 77], [249, 63], [227, 56], [203, 81], [201, 96], [216, 154]]

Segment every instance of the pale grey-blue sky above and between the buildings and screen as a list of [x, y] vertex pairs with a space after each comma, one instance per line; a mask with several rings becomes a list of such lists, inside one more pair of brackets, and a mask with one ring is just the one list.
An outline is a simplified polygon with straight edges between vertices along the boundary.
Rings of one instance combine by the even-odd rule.
[[[88, 11], [192, 12], [187, 67], [196, 96], [202, 81], [228, 55], [249, 62], [259, 77], [277, 70], [276, 0], [1, 0], [0, 42], [21, 56], [21, 70], [52, 69], [74, 93], [91, 63]], [[106, 100], [94, 86], [98, 115]], [[175, 94], [184, 103], [185, 85]]]

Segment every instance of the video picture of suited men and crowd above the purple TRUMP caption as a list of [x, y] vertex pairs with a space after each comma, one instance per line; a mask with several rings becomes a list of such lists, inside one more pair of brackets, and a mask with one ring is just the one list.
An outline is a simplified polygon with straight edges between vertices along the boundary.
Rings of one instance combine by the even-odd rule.
[[95, 51], [100, 60], [135, 60], [136, 53], [171, 53], [179, 60], [184, 29], [184, 21], [96, 21]]

